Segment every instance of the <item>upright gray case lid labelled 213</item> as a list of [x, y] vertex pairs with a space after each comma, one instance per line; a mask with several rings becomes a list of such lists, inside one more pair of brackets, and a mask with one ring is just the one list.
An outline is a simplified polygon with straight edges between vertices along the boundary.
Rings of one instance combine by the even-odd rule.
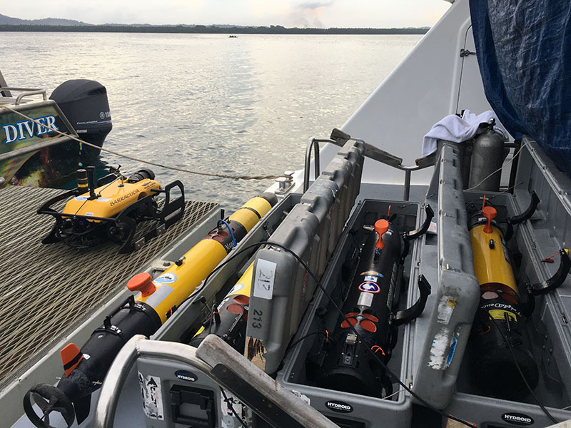
[[[271, 235], [318, 277], [335, 249], [359, 193], [363, 143], [348, 141]], [[278, 246], [258, 251], [246, 330], [246, 357], [262, 370], [278, 370], [285, 347], [313, 297], [315, 281]]]

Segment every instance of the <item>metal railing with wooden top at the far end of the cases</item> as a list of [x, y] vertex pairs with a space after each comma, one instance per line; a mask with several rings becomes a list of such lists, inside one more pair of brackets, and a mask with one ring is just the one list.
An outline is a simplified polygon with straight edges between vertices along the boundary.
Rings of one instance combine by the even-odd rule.
[[307, 148], [305, 148], [305, 167], [303, 170], [303, 192], [309, 188], [310, 181], [310, 163], [311, 163], [311, 152], [314, 153], [314, 165], [315, 165], [315, 178], [320, 175], [320, 162], [319, 162], [319, 143], [332, 143], [335, 146], [343, 147], [347, 141], [357, 141], [365, 145], [365, 156], [385, 165], [389, 165], [398, 170], [405, 172], [405, 181], [403, 183], [403, 200], [408, 200], [410, 197], [410, 176], [413, 171], [421, 170], [433, 166], [436, 161], [435, 153], [418, 158], [415, 161], [415, 165], [403, 165], [403, 159], [398, 156], [394, 156], [391, 153], [381, 150], [368, 144], [366, 141], [360, 138], [352, 138], [348, 133], [334, 128], [331, 132], [331, 138], [311, 138]]

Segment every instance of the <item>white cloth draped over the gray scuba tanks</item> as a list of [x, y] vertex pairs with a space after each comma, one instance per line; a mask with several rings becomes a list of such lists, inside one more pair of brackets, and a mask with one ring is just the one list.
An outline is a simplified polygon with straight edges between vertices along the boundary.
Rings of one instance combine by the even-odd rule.
[[490, 119], [495, 119], [494, 130], [501, 133], [507, 141], [507, 131], [497, 120], [495, 113], [491, 110], [478, 115], [465, 110], [460, 118], [455, 114], [450, 114], [436, 123], [433, 128], [423, 138], [423, 156], [428, 156], [436, 151], [438, 140], [462, 143], [469, 140], [478, 133], [480, 123], [489, 123]]

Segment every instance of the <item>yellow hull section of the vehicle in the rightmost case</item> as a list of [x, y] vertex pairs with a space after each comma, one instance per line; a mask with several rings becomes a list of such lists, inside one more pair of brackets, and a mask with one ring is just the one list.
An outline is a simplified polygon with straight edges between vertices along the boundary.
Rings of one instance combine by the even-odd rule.
[[[492, 233], [485, 233], [484, 227], [485, 225], [479, 225], [470, 230], [477, 280], [480, 285], [499, 282], [517, 293], [512, 266], [508, 261], [510, 256], [502, 243], [502, 233], [493, 226]], [[490, 248], [490, 239], [494, 240], [494, 248]]]

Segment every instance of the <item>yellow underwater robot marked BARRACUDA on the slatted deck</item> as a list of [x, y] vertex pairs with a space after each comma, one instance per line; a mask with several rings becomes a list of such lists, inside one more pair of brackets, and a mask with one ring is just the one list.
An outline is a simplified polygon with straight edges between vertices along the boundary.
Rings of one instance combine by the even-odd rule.
[[[78, 170], [77, 188], [51, 198], [39, 208], [39, 214], [56, 218], [54, 228], [42, 243], [62, 241], [71, 247], [87, 248], [108, 239], [121, 245], [119, 253], [131, 253], [182, 218], [184, 188], [180, 181], [173, 181], [163, 189], [151, 170], [143, 168], [126, 177], [113, 169], [97, 181], [96, 187], [94, 169]], [[173, 188], [178, 188], [181, 196], [171, 200]], [[161, 210], [155, 200], [158, 193], [166, 195]], [[68, 198], [63, 212], [51, 208]], [[136, 226], [144, 220], [155, 220], [158, 224], [133, 243]]]

